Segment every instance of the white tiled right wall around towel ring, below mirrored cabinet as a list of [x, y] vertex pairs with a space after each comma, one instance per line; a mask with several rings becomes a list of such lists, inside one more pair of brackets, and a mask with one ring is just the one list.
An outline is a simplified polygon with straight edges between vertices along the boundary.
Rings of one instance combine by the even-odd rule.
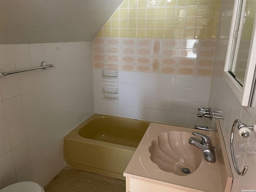
[[[221, 94], [220, 90], [222, 90]], [[237, 158], [238, 167], [240, 170], [242, 170], [244, 166], [249, 167], [246, 175], [239, 176], [234, 169], [230, 155], [230, 134], [232, 124], [237, 118], [247, 125], [256, 124], [256, 119], [248, 112], [249, 110], [253, 110], [253, 114], [255, 114], [256, 108], [244, 108], [232, 90], [228, 87], [224, 78], [215, 77], [212, 78], [209, 105], [212, 108], [221, 108], [224, 114], [224, 120], [221, 120], [220, 124], [234, 178], [232, 192], [254, 190], [256, 187], [256, 136], [251, 134], [249, 137], [250, 140], [244, 139], [238, 136], [238, 131], [237, 129], [235, 130], [234, 149], [235, 154], [239, 157]]]

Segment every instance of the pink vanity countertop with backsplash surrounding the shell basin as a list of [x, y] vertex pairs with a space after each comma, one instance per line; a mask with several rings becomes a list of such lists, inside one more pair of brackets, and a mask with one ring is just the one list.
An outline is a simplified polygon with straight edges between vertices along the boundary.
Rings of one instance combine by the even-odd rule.
[[[124, 176], [188, 192], [230, 191], [232, 186], [232, 172], [218, 120], [215, 124], [215, 130], [218, 131], [194, 130], [191, 128], [151, 123], [126, 167]], [[158, 135], [170, 131], [188, 132], [190, 134], [192, 134], [192, 131], [196, 131], [210, 137], [212, 145], [216, 146], [214, 149], [216, 162], [207, 162], [204, 160], [204, 156], [202, 156], [203, 160], [197, 170], [186, 176], [179, 176], [161, 170], [150, 159], [149, 147], [151, 146], [152, 140], [157, 138]]]

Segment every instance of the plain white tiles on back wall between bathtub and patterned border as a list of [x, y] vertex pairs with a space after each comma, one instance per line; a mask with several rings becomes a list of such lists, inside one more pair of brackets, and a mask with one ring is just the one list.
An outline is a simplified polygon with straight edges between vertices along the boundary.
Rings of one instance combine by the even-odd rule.
[[113, 102], [102, 99], [100, 72], [93, 73], [96, 113], [187, 127], [209, 123], [196, 114], [198, 107], [208, 106], [211, 77], [120, 71], [120, 99]]

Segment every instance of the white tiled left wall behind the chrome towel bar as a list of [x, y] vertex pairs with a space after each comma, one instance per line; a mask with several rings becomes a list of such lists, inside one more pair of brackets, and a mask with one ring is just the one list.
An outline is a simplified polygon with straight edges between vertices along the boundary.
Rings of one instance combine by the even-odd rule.
[[64, 167], [62, 137], [94, 113], [91, 42], [0, 45], [3, 71], [43, 60], [55, 67], [0, 79], [0, 188], [45, 186]]

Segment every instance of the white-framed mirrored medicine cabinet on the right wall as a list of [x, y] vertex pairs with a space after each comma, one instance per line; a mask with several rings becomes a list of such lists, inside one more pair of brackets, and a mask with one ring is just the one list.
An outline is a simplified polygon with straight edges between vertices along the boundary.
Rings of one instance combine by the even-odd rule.
[[255, 82], [255, 13], [255, 0], [235, 1], [223, 77], [242, 106], [248, 106]]

